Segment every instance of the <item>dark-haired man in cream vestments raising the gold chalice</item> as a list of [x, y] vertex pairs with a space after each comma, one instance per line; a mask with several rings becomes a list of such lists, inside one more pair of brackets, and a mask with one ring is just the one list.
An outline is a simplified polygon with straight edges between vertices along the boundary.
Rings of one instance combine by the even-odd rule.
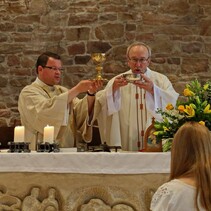
[[[31, 143], [30, 148], [35, 150], [37, 143], [43, 141], [47, 125], [54, 126], [54, 139], [60, 147], [76, 146], [77, 134], [90, 142], [92, 127], [89, 123], [100, 82], [83, 80], [72, 89], [58, 85], [62, 63], [60, 56], [51, 52], [40, 55], [36, 68], [38, 77], [23, 88], [18, 101], [25, 141]], [[77, 95], [83, 92], [88, 95], [78, 99]]]

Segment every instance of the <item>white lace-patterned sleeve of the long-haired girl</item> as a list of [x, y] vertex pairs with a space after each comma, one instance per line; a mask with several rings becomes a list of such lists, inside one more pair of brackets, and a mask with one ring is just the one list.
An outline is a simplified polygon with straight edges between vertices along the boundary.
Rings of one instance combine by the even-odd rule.
[[164, 211], [169, 210], [169, 202], [172, 198], [172, 191], [169, 189], [168, 184], [163, 184], [152, 197], [150, 210]]

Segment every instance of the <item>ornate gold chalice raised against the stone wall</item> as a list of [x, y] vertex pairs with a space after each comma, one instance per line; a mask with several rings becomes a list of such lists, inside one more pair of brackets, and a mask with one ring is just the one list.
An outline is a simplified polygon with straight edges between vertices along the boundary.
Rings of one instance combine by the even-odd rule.
[[91, 55], [92, 61], [96, 65], [95, 69], [97, 71], [96, 80], [106, 80], [102, 77], [103, 62], [106, 60], [105, 53], [93, 53]]

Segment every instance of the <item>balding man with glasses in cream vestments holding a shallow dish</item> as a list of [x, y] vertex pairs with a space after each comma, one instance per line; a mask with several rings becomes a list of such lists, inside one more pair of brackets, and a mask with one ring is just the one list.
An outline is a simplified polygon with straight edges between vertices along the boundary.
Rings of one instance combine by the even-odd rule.
[[140, 74], [142, 79], [128, 82], [120, 74], [108, 82], [105, 88], [107, 106], [102, 107], [98, 124], [103, 142], [121, 146], [123, 150], [139, 151], [152, 118], [161, 120], [157, 109], [165, 109], [168, 103], [175, 105], [178, 93], [165, 75], [149, 69], [149, 46], [132, 44], [126, 56], [130, 70], [124, 74]]

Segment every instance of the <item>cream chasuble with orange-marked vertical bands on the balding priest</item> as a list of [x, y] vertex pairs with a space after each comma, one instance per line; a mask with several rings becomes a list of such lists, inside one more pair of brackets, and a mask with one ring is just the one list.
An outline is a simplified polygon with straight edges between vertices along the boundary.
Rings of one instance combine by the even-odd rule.
[[[126, 73], [131, 72], [129, 70]], [[113, 98], [114, 78], [107, 84], [107, 106], [102, 107], [98, 115], [98, 124], [101, 139], [108, 145], [122, 146], [123, 150], [128, 151], [142, 149], [144, 132], [151, 124], [152, 118], [161, 120], [160, 115], [156, 113], [157, 108], [164, 109], [168, 103], [176, 104], [178, 93], [165, 75], [149, 68], [145, 74], [154, 83], [154, 95], [129, 83], [116, 91]]]

